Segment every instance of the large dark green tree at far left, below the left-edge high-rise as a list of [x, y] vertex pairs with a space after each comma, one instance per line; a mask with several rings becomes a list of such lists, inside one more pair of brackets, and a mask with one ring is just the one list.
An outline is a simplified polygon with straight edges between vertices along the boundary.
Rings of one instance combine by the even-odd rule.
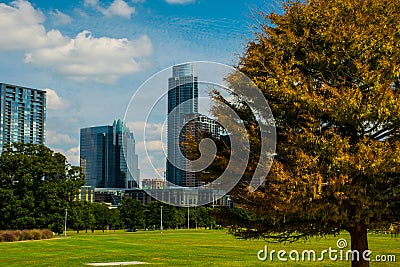
[[0, 156], [0, 229], [64, 229], [65, 208], [84, 184], [79, 167], [44, 145], [15, 143]]

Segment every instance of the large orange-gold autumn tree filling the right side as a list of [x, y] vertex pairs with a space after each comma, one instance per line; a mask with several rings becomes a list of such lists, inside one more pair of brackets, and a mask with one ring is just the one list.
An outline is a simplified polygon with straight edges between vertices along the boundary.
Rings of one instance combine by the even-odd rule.
[[[270, 105], [276, 157], [263, 187], [247, 190], [250, 160], [231, 192], [254, 214], [235, 234], [293, 241], [347, 230], [363, 252], [367, 229], [400, 218], [400, 2], [286, 1], [257, 21], [238, 69]], [[240, 99], [230, 105], [250, 133], [258, 128]]]

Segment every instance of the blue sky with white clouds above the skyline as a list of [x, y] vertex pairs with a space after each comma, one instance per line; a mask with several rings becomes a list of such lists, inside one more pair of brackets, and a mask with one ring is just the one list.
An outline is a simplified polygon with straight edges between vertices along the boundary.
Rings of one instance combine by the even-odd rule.
[[[0, 82], [47, 91], [46, 144], [79, 165], [79, 129], [123, 118], [130, 98], [151, 75], [188, 61], [237, 63], [252, 38], [252, 12], [264, 3], [1, 1]], [[135, 110], [140, 113], [140, 106], [130, 108]], [[143, 122], [130, 127], [138, 131]], [[148, 127], [161, 131], [160, 125]], [[141, 161], [144, 146], [137, 143]], [[150, 145], [161, 151], [157, 142]], [[154, 176], [154, 170], [139, 166], [142, 178]]]

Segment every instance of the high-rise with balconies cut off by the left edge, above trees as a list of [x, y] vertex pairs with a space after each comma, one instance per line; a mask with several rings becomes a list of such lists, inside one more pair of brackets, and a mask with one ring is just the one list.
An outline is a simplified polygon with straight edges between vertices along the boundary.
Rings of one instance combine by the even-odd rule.
[[14, 142], [44, 144], [46, 92], [0, 83], [0, 153]]

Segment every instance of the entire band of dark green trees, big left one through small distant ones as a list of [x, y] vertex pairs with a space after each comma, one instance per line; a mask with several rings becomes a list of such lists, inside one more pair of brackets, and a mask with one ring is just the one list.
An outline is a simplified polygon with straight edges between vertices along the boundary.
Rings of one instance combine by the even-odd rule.
[[[0, 155], [0, 230], [50, 229], [62, 233], [116, 229], [159, 229], [161, 206], [163, 228], [187, 227], [187, 208], [151, 202], [144, 206], [124, 198], [120, 207], [77, 201], [84, 185], [79, 167], [44, 145], [14, 143]], [[189, 226], [215, 227], [210, 209], [189, 209]]]

